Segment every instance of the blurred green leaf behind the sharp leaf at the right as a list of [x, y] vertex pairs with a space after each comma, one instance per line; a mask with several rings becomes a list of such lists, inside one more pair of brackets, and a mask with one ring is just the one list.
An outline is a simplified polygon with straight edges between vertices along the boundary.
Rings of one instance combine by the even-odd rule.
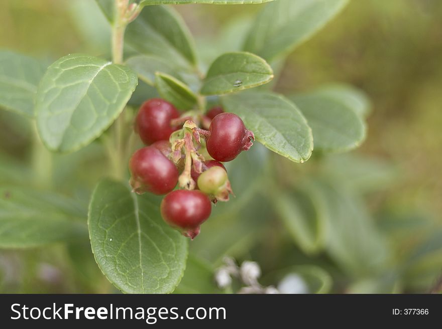
[[307, 119], [316, 149], [348, 151], [365, 139], [364, 119], [339, 95], [313, 91], [290, 99]]

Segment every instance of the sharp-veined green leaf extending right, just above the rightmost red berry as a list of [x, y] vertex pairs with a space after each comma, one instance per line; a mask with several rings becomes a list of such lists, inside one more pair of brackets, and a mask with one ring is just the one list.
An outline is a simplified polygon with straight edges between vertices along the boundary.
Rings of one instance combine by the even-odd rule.
[[227, 111], [238, 114], [256, 140], [294, 162], [304, 162], [313, 150], [311, 129], [299, 109], [271, 92], [248, 92], [223, 97]]

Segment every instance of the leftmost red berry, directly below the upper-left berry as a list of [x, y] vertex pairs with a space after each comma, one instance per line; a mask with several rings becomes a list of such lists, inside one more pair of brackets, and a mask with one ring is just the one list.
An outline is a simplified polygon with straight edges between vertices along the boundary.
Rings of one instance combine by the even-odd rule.
[[137, 150], [129, 161], [130, 184], [134, 192], [162, 195], [172, 191], [178, 182], [175, 164], [154, 146]]

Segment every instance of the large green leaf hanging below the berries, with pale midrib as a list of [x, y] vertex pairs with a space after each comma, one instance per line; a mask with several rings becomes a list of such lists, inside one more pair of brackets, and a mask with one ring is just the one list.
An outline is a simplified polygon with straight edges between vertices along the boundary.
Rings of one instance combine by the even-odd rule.
[[161, 218], [159, 198], [101, 181], [89, 205], [89, 236], [101, 271], [126, 293], [168, 293], [186, 266], [187, 239]]

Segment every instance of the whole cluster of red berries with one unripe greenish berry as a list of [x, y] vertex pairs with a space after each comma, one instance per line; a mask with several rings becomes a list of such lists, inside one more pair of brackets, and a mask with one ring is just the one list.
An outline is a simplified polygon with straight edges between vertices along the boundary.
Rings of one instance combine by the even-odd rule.
[[[208, 130], [195, 122], [207, 125]], [[141, 106], [135, 131], [148, 146], [138, 149], [129, 161], [133, 192], [167, 194], [161, 202], [163, 219], [193, 239], [210, 216], [211, 203], [228, 201], [233, 193], [221, 161], [231, 161], [248, 150], [253, 132], [222, 107], [199, 117], [181, 116], [172, 104], [158, 98]], [[177, 184], [182, 189], [173, 191]]]

